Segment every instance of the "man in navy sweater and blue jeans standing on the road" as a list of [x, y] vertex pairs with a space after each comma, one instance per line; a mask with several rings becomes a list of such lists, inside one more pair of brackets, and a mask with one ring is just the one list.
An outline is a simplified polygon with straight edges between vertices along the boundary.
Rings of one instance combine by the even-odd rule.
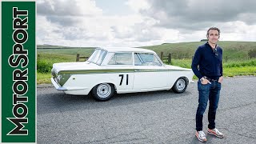
[[223, 138], [223, 134], [215, 128], [215, 115], [218, 107], [219, 94], [222, 87], [222, 48], [217, 45], [220, 30], [217, 27], [210, 27], [206, 37], [208, 42], [199, 46], [195, 51], [192, 61], [192, 70], [198, 77], [198, 110], [196, 114], [196, 137], [201, 142], [206, 142], [206, 134], [202, 131], [202, 117], [207, 107], [209, 134]]

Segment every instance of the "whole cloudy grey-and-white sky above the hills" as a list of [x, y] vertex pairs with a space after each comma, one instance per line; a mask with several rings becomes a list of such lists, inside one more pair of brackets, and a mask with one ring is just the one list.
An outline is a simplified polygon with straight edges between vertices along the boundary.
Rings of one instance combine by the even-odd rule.
[[198, 42], [217, 26], [222, 41], [256, 41], [255, 0], [38, 0], [37, 44], [151, 46]]

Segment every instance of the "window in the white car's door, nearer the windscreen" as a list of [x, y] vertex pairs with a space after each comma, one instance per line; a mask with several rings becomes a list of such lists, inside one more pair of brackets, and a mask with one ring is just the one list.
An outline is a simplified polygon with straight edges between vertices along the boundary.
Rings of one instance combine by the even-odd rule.
[[150, 53], [135, 53], [134, 60], [135, 66], [162, 66], [158, 58]]

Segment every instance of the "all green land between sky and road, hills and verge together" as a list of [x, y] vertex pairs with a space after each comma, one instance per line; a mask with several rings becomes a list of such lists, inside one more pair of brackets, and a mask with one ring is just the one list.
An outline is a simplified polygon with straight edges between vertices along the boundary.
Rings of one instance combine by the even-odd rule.
[[[205, 42], [182, 42], [144, 46], [154, 50], [158, 55], [161, 51], [165, 56], [172, 54], [171, 65], [190, 68], [191, 59], [198, 46]], [[256, 58], [249, 58], [250, 50], [256, 50], [256, 42], [218, 42], [223, 49], [223, 74], [233, 77], [236, 75], [256, 75]], [[90, 56], [94, 48], [39, 45], [37, 55], [37, 83], [50, 83], [50, 70], [55, 62], [75, 62], [76, 54]], [[167, 61], [164, 61], [167, 63]], [[195, 77], [194, 77], [195, 78]]]

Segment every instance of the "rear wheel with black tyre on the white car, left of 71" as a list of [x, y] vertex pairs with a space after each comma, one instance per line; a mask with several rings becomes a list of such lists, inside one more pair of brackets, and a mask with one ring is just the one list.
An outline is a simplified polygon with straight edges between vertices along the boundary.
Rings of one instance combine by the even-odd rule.
[[108, 83], [101, 83], [94, 86], [91, 94], [97, 101], [107, 101], [114, 95], [114, 86]]

